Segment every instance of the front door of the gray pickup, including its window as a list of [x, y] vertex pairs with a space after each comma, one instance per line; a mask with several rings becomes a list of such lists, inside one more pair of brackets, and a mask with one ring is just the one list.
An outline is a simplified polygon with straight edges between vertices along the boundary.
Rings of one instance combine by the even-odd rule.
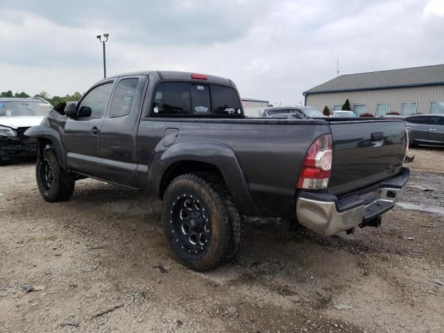
[[87, 176], [101, 178], [101, 129], [113, 85], [110, 81], [90, 89], [77, 105], [78, 116], [65, 124], [67, 164]]

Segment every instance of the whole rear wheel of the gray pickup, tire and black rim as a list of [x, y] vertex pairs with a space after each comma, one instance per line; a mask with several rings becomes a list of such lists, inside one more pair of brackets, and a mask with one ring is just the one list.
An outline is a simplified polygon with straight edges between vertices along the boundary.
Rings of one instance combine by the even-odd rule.
[[239, 248], [243, 219], [221, 180], [206, 173], [175, 178], [164, 194], [162, 222], [179, 261], [208, 271]]

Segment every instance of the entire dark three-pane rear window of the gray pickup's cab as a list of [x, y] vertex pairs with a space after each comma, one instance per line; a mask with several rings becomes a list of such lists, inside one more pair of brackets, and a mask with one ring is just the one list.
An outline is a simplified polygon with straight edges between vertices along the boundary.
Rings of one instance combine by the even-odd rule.
[[236, 90], [221, 85], [159, 83], [155, 89], [153, 116], [241, 116]]

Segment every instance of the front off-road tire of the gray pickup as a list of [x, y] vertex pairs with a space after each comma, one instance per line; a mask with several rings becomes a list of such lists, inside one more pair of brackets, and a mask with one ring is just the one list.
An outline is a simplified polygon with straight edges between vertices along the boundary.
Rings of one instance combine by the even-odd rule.
[[[48, 173], [46, 171], [48, 169], [51, 169], [50, 185], [46, 178]], [[50, 203], [68, 200], [74, 192], [74, 186], [76, 184], [74, 176], [60, 167], [56, 153], [51, 149], [44, 151], [43, 159], [41, 159], [40, 156], [37, 157], [35, 178], [40, 194], [44, 200]]]

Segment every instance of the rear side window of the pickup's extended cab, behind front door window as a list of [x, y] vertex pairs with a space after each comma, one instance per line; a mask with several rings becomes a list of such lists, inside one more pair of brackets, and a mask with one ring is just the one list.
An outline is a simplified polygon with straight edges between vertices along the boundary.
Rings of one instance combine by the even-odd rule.
[[123, 117], [130, 113], [136, 94], [138, 78], [125, 78], [117, 85], [110, 105], [108, 117]]

